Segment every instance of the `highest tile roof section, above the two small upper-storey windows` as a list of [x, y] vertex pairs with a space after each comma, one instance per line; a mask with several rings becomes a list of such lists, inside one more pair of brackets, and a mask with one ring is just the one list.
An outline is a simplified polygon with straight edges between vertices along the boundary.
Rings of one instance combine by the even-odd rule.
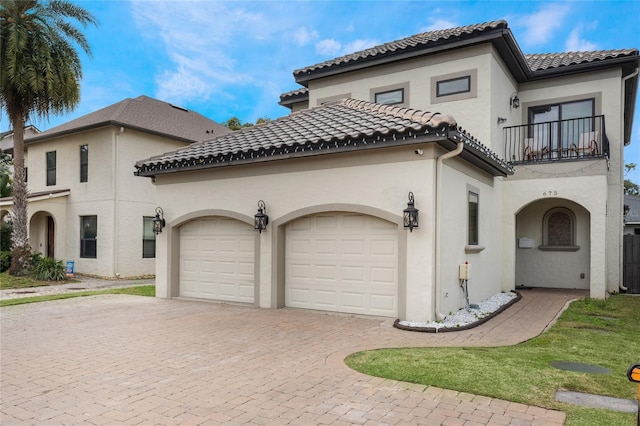
[[432, 45], [449, 43], [457, 40], [473, 38], [479, 33], [496, 29], [507, 28], [507, 22], [504, 20], [486, 22], [482, 24], [467, 25], [457, 28], [449, 28], [444, 30], [429, 31], [416, 34], [400, 40], [384, 43], [359, 52], [340, 56], [335, 59], [320, 62], [305, 68], [297, 69], [293, 72], [296, 79], [307, 74], [317, 71], [327, 70], [333, 67], [340, 67], [346, 64], [366, 61], [380, 56], [390, 56], [401, 54], [413, 49], [421, 49]]

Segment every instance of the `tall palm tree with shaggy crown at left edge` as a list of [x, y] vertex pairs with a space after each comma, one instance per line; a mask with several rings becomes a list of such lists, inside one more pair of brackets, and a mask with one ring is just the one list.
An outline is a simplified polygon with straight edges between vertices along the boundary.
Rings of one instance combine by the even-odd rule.
[[0, 107], [13, 128], [13, 248], [9, 272], [23, 274], [31, 250], [27, 234], [24, 126], [32, 115], [70, 111], [80, 101], [82, 66], [74, 46], [91, 49], [73, 21], [94, 16], [67, 0], [0, 0]]

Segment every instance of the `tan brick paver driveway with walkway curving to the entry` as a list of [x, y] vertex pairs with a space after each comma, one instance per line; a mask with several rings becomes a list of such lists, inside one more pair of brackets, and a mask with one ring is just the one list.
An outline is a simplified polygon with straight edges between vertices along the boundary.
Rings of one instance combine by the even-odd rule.
[[97, 296], [0, 309], [0, 423], [536, 424], [557, 411], [382, 380], [342, 360], [376, 347], [499, 345], [540, 333], [571, 291], [532, 290], [472, 330], [303, 310]]

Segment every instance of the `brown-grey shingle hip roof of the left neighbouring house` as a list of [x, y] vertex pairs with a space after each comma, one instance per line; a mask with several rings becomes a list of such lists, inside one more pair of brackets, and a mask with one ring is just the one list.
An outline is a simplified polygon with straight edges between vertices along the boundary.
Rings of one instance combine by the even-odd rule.
[[107, 125], [123, 126], [149, 133], [196, 142], [231, 132], [205, 116], [148, 96], [127, 98], [90, 114], [53, 127], [27, 143]]

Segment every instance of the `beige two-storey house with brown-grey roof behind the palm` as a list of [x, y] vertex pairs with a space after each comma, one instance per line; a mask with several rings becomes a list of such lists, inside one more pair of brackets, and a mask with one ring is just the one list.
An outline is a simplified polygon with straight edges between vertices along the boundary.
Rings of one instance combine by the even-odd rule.
[[[33, 251], [104, 277], [155, 273], [155, 186], [136, 159], [230, 132], [206, 117], [140, 96], [25, 138]], [[0, 199], [7, 216], [13, 200]]]

